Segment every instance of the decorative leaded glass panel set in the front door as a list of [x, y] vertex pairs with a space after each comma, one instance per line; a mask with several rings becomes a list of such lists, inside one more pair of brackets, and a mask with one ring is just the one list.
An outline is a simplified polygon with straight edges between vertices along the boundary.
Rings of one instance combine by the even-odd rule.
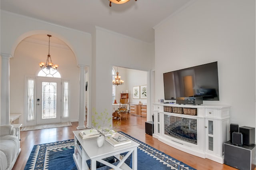
[[42, 119], [56, 118], [55, 82], [42, 82]]

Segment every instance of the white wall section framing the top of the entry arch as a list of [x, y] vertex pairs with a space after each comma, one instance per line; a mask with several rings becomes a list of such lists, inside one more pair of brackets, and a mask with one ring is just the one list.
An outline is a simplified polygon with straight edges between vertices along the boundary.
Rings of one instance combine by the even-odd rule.
[[77, 64], [89, 65], [92, 57], [92, 37], [86, 32], [66, 28], [1, 10], [1, 53], [14, 56], [18, 43], [37, 34], [50, 34], [65, 42], [76, 56]]

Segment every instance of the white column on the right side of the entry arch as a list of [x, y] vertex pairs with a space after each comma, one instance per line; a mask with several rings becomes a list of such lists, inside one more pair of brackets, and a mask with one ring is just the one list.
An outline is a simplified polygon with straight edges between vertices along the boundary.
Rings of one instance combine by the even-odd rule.
[[85, 118], [85, 100], [84, 100], [84, 68], [85, 65], [78, 65], [80, 67], [80, 81], [79, 81], [79, 120], [77, 129], [83, 129]]

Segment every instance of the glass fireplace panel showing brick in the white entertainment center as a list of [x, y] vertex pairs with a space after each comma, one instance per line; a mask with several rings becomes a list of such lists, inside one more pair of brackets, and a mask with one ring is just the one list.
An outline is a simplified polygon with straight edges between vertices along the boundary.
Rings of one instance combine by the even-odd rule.
[[164, 134], [197, 144], [197, 120], [164, 115]]

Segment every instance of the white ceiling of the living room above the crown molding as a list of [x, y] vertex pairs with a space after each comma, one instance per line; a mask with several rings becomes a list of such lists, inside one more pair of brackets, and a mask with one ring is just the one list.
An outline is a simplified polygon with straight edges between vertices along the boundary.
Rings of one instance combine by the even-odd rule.
[[[1, 10], [92, 33], [99, 26], [144, 42], [154, 42], [162, 20], [193, 0], [1, 0]], [[46, 36], [46, 39], [48, 37]]]

